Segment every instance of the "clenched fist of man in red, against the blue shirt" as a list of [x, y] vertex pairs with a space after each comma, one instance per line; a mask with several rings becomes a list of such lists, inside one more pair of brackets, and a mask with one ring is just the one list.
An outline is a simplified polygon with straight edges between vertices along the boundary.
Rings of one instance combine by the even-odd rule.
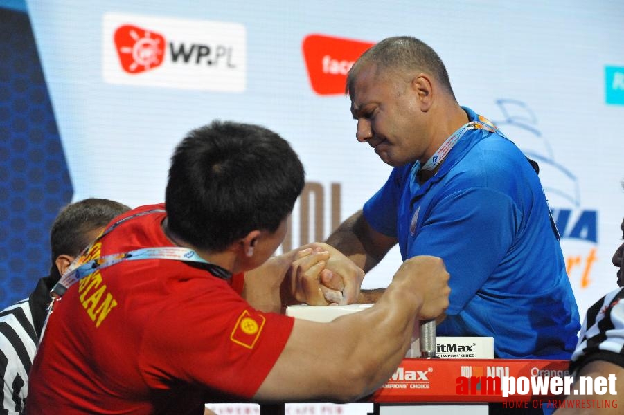
[[449, 306], [449, 273], [441, 258], [420, 255], [407, 259], [393, 280], [420, 297], [418, 320], [436, 318]]

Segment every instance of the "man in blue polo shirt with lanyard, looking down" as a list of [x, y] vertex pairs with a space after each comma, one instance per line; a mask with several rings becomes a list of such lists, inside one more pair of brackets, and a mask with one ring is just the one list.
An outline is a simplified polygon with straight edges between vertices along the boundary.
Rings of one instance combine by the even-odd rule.
[[384, 39], [347, 83], [357, 140], [394, 169], [328, 243], [365, 271], [396, 243], [403, 259], [442, 257], [452, 291], [438, 335], [492, 336], [499, 358], [568, 359], [578, 308], [533, 163], [460, 107], [418, 39]]

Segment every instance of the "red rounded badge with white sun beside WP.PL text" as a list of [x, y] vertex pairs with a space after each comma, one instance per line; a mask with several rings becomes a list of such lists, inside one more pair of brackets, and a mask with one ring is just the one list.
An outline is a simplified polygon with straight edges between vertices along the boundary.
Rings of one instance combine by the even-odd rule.
[[156, 68], [163, 63], [165, 37], [125, 24], [115, 30], [115, 46], [121, 67], [127, 73], [141, 73]]

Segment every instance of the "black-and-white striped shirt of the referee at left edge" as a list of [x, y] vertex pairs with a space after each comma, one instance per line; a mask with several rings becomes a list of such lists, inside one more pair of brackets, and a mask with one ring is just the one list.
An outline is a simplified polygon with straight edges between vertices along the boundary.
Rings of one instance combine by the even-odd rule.
[[0, 415], [21, 414], [28, 394], [28, 371], [37, 350], [28, 299], [0, 311], [0, 370], [4, 397]]

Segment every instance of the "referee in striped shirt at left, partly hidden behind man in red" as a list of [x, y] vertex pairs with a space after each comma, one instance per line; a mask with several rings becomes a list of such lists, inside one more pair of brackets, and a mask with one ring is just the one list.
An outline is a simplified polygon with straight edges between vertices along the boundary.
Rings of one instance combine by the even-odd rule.
[[51, 301], [50, 290], [105, 225], [127, 210], [126, 205], [108, 199], [84, 199], [67, 205], [56, 217], [50, 232], [50, 275], [39, 279], [28, 298], [0, 311], [0, 370], [4, 378], [0, 415], [24, 413], [28, 371]]

